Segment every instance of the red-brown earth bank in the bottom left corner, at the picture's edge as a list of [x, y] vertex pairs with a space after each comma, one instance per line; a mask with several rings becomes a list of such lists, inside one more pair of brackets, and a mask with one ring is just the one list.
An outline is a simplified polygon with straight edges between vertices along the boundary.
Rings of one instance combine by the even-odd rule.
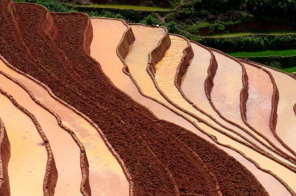
[[0, 118], [0, 195], [10, 196], [8, 162], [10, 159], [10, 143], [4, 123]]

